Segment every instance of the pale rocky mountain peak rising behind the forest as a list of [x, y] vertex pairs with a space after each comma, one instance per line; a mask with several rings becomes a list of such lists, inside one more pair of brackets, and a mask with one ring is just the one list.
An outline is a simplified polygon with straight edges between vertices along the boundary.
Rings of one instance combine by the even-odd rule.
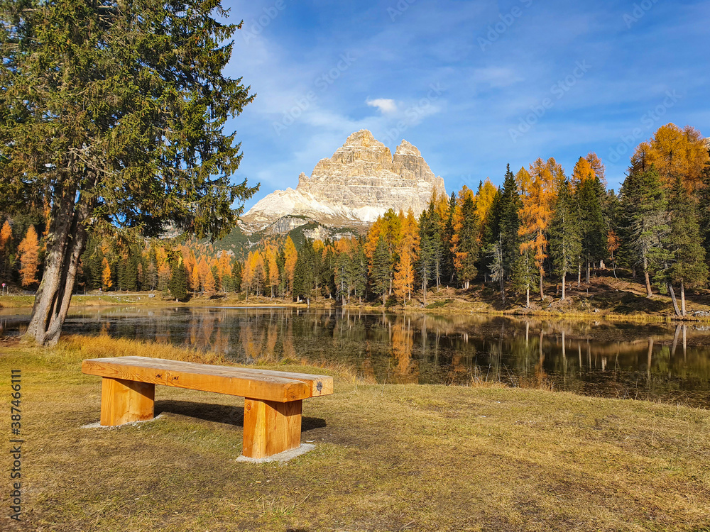
[[[363, 129], [352, 133], [329, 159], [321, 159], [310, 176], [301, 173], [295, 189], [276, 190], [241, 217], [247, 233], [286, 233], [314, 224], [364, 229], [388, 209], [416, 216], [432, 192], [446, 194], [419, 150], [406, 140], [394, 157], [389, 148]], [[350, 231], [342, 231], [349, 233]]]

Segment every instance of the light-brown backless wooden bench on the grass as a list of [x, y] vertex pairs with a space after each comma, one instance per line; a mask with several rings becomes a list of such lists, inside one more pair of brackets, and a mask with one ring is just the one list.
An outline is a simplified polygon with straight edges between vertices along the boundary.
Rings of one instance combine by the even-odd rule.
[[333, 377], [146, 357], [84, 360], [82, 372], [103, 377], [101, 425], [153, 419], [155, 384], [244, 397], [248, 458], [266, 458], [301, 443], [303, 399], [333, 393]]

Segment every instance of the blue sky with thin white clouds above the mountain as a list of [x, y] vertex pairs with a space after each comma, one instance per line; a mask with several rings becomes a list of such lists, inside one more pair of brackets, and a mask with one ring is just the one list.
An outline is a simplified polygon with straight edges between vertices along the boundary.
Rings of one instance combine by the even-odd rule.
[[229, 123], [261, 182], [297, 184], [366, 128], [420, 149], [447, 191], [537, 157], [567, 174], [594, 151], [618, 189], [665, 123], [710, 136], [710, 2], [224, 0], [227, 74], [257, 93]]

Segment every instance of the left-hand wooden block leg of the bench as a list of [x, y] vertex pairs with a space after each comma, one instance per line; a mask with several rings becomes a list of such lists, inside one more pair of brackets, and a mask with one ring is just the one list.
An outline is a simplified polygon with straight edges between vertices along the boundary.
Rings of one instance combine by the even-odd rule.
[[104, 377], [101, 384], [101, 425], [116, 426], [153, 419], [155, 384]]

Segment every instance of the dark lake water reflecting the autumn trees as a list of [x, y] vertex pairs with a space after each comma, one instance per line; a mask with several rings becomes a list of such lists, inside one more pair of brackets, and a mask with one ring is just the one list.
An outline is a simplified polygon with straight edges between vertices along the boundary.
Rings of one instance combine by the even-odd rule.
[[[0, 336], [28, 314], [0, 310]], [[344, 365], [378, 383], [551, 387], [710, 406], [710, 328], [292, 308], [77, 308], [67, 333], [211, 349], [236, 362]]]

